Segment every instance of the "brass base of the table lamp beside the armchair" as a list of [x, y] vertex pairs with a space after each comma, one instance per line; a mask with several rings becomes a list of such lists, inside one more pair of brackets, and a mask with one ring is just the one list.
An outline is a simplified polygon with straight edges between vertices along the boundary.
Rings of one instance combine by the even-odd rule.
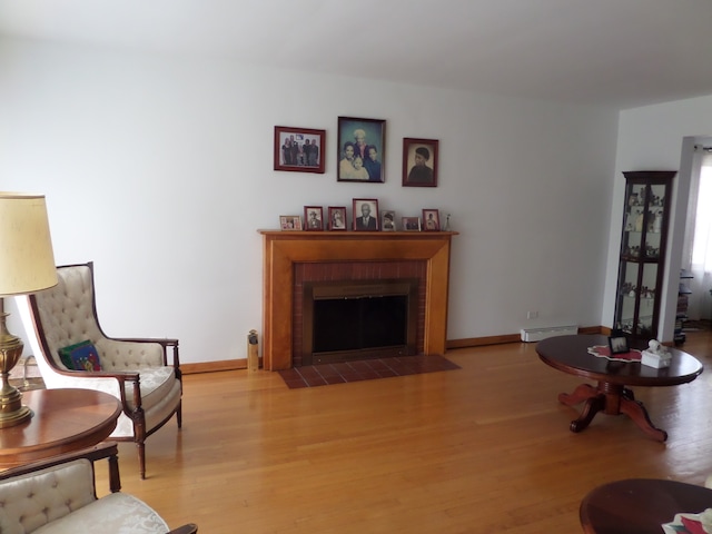
[[22, 406], [22, 394], [10, 385], [10, 370], [22, 356], [24, 348], [19, 337], [8, 332], [4, 319], [6, 313], [0, 314], [0, 370], [2, 372], [2, 387], [0, 387], [0, 428], [16, 426], [32, 417], [32, 411]]

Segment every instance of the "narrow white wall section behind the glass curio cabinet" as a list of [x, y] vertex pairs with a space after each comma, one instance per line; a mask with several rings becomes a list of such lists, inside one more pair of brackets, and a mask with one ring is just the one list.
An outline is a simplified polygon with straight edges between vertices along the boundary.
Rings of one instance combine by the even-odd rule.
[[[678, 100], [621, 112], [619, 146], [615, 164], [613, 221], [623, 218], [625, 170], [681, 170], [673, 184], [673, 212], [669, 230], [669, 250], [665, 271], [668, 284], [661, 301], [661, 337], [672, 340], [678, 304], [679, 273], [688, 214], [692, 146], [695, 138], [712, 134], [712, 96]], [[686, 139], [685, 139], [686, 138]], [[683, 142], [684, 141], [684, 142]], [[611, 226], [609, 261], [606, 267], [605, 299], [601, 323], [613, 324], [617, 255], [621, 227]]]

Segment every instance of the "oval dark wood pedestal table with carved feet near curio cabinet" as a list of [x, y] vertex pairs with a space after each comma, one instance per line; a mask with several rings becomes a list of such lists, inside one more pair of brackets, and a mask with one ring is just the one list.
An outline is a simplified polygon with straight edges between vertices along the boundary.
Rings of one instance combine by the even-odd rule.
[[668, 433], [653, 426], [647, 411], [635, 400], [626, 386], [675, 386], [694, 380], [702, 373], [702, 364], [682, 350], [671, 348], [670, 367], [657, 369], [640, 362], [610, 360], [589, 354], [589, 347], [606, 345], [607, 337], [558, 336], [536, 345], [542, 362], [570, 375], [599, 383], [597, 387], [582, 384], [573, 393], [562, 393], [558, 400], [566, 406], [584, 403], [581, 415], [571, 422], [571, 432], [581, 432], [603, 412], [607, 415], [627, 415], [650, 437], [664, 442]]

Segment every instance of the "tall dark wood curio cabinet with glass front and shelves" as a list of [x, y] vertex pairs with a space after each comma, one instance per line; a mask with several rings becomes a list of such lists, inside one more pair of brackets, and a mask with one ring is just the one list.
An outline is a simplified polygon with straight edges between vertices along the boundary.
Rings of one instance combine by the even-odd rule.
[[633, 340], [657, 338], [675, 174], [668, 170], [623, 172], [625, 207], [614, 327]]

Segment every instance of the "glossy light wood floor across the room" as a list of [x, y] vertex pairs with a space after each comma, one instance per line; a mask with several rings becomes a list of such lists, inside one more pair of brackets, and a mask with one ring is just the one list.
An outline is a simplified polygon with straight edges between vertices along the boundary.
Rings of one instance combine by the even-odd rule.
[[[710, 333], [682, 348], [712, 368]], [[146, 481], [120, 445], [123, 491], [202, 533], [576, 533], [599, 484], [712, 473], [709, 370], [635, 388], [661, 444], [625, 416], [572, 434], [556, 396], [581, 380], [534, 344], [446, 356], [462, 369], [304, 389], [269, 372], [186, 376], [184, 428], [149, 438]]]

